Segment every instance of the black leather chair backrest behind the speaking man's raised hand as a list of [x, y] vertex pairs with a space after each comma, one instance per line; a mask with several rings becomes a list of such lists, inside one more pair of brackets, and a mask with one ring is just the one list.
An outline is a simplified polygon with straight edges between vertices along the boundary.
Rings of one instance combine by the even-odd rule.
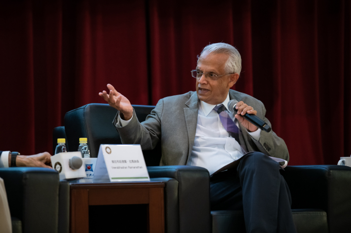
[[[140, 122], [155, 106], [133, 105]], [[87, 138], [92, 157], [98, 157], [100, 144], [121, 144], [118, 131], [112, 124], [117, 110], [108, 104], [87, 104], [65, 115], [65, 131], [70, 151], [77, 151], [79, 138]], [[158, 166], [161, 160], [161, 143], [155, 149], [143, 151], [147, 166]]]

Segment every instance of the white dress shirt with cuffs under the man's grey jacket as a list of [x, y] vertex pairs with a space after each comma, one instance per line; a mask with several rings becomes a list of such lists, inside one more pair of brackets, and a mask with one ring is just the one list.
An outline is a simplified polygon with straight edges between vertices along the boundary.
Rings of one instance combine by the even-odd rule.
[[[234, 119], [234, 123], [240, 131], [239, 123], [234, 118], [234, 114], [227, 109], [229, 100], [228, 92], [227, 98], [222, 104], [225, 106], [229, 116]], [[228, 131], [223, 127], [219, 119], [218, 113], [213, 110], [215, 107], [216, 105], [207, 104], [203, 101], [199, 102], [194, 146], [187, 164], [206, 168], [210, 174], [247, 153], [247, 148], [244, 145], [240, 146], [234, 138], [229, 136]], [[116, 126], [126, 126], [133, 117], [134, 113], [130, 120], [124, 121], [118, 115]], [[258, 141], [261, 129], [257, 129], [255, 132], [248, 131], [248, 133], [252, 140]]]

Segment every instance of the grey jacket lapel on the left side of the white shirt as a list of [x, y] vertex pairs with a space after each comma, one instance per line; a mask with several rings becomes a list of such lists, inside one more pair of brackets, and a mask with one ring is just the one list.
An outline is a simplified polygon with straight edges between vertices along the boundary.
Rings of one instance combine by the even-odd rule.
[[198, 94], [195, 92], [190, 96], [189, 100], [186, 101], [185, 103], [187, 108], [184, 108], [184, 116], [185, 116], [186, 129], [188, 131], [188, 137], [189, 137], [189, 151], [188, 151], [188, 156], [184, 158], [184, 161], [182, 161], [181, 163], [184, 165], [187, 164], [194, 145], [196, 125], [198, 123], [198, 110], [199, 110], [198, 102], [199, 102]]

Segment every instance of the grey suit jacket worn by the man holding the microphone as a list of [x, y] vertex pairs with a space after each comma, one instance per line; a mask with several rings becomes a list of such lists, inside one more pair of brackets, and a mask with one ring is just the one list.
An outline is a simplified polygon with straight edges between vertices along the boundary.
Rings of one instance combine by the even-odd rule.
[[[257, 111], [257, 116], [271, 126], [265, 117], [263, 103], [252, 96], [234, 90], [229, 91], [230, 99], [243, 101]], [[142, 150], [155, 148], [161, 140], [162, 157], [160, 166], [186, 165], [191, 155], [195, 140], [198, 120], [199, 98], [196, 92], [169, 96], [160, 99], [142, 123], [136, 114], [129, 124], [117, 127], [123, 144], [140, 144]], [[117, 112], [118, 116], [119, 112]], [[117, 117], [114, 123], [117, 122]], [[116, 125], [116, 124], [115, 124]], [[246, 128], [240, 124], [242, 134], [240, 143], [245, 144], [248, 151], [259, 151], [266, 155], [289, 160], [289, 153], [283, 139], [273, 131], [262, 130], [259, 141], [252, 140]]]

